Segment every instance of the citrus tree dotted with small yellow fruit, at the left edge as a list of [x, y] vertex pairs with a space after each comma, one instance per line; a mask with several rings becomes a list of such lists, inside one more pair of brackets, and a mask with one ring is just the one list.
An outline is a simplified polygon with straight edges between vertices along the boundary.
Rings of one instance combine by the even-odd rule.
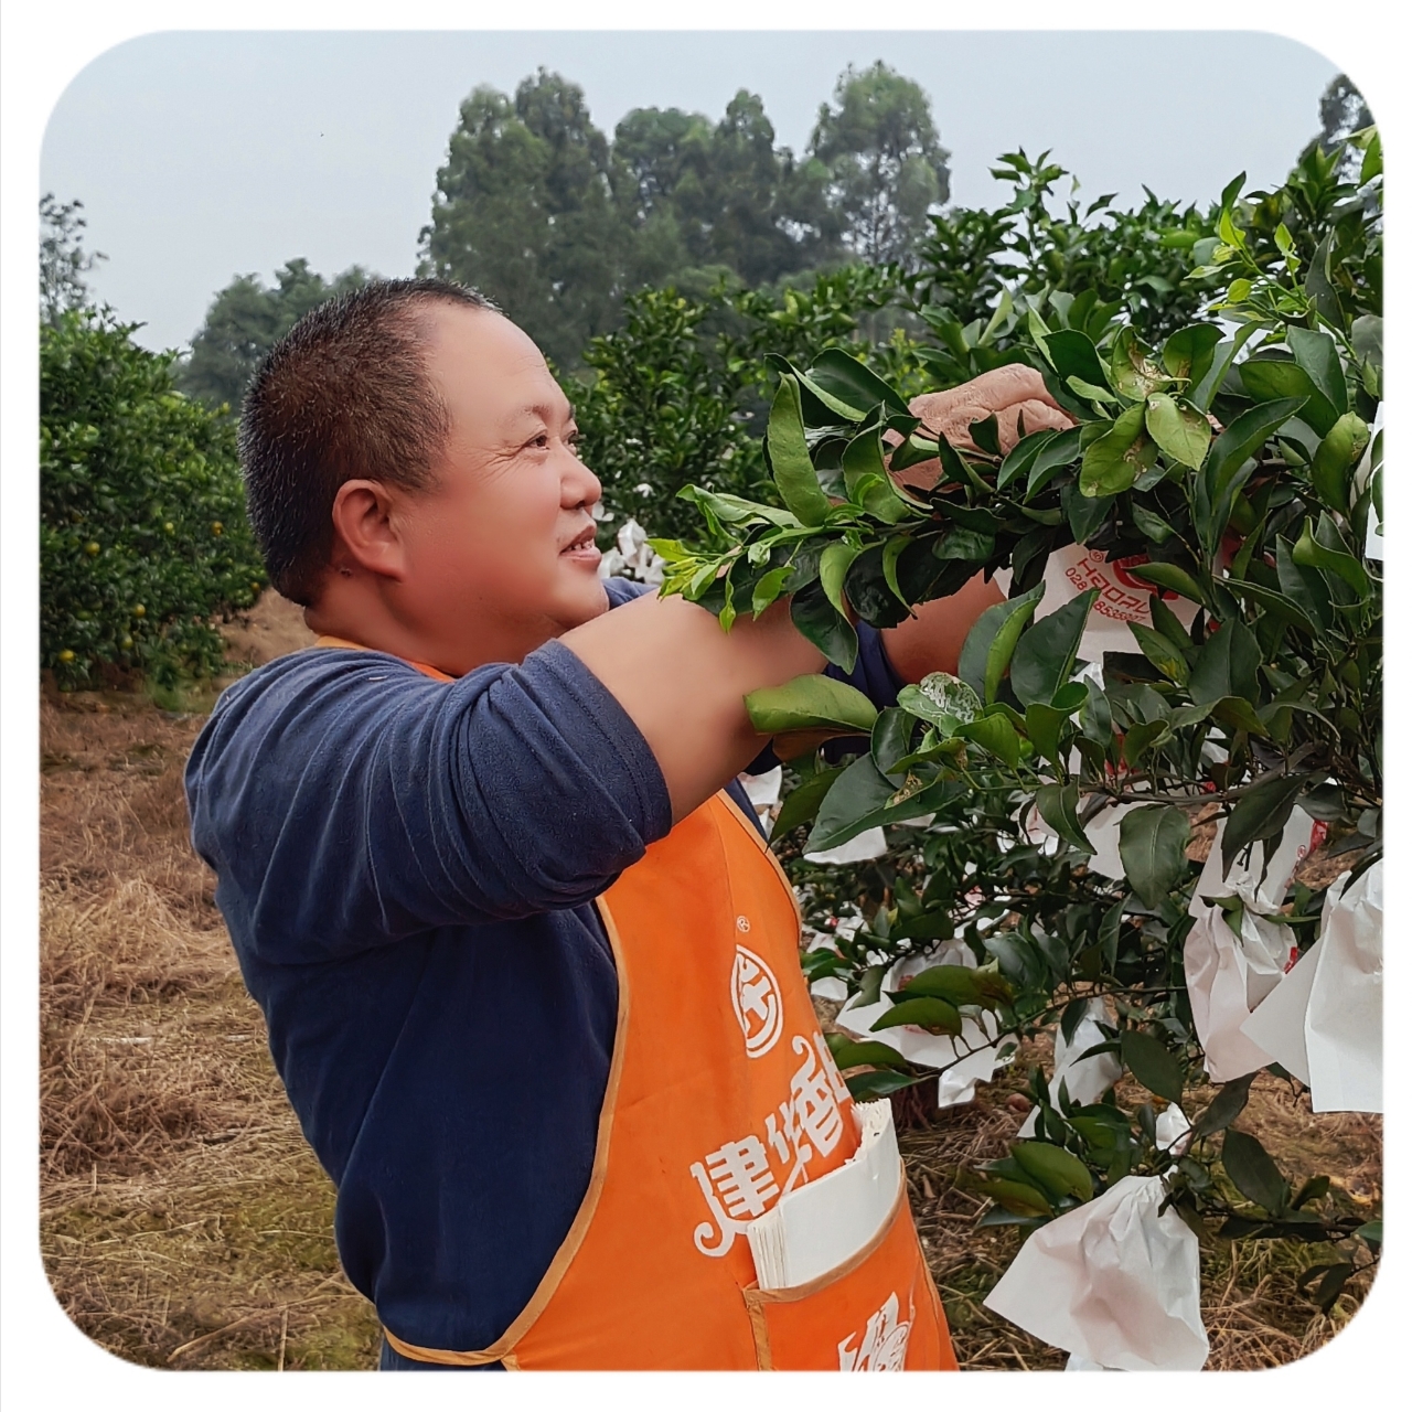
[[265, 586], [234, 426], [134, 328], [76, 308], [40, 329], [40, 652], [65, 689], [213, 675], [213, 617]]

